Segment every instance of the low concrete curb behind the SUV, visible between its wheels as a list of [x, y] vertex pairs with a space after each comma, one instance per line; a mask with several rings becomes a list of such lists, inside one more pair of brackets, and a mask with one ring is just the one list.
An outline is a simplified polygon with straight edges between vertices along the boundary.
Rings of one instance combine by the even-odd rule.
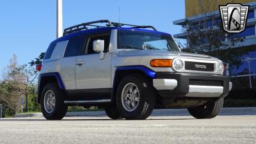
[[[189, 115], [187, 109], [154, 109], [151, 116]], [[256, 115], [256, 107], [251, 108], [222, 108], [220, 115]], [[106, 116], [105, 111], [76, 111], [68, 112], [68, 116]], [[42, 113], [17, 114], [15, 118], [43, 117]]]

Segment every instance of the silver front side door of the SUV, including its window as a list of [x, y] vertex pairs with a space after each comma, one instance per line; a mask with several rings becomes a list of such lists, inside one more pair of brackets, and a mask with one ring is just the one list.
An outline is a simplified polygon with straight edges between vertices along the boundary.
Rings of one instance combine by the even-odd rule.
[[[93, 41], [104, 40], [104, 59], [93, 51]], [[89, 35], [83, 56], [77, 56], [76, 87], [77, 90], [99, 90], [109, 92], [111, 88], [111, 54], [109, 54], [110, 31]], [[88, 91], [88, 92], [89, 92]], [[86, 91], [85, 91], [86, 92]], [[103, 94], [103, 93], [102, 93]]]

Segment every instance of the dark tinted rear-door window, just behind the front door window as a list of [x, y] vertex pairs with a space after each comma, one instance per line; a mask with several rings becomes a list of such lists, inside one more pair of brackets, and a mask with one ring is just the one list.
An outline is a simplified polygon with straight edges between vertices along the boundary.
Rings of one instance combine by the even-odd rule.
[[68, 41], [64, 57], [83, 55], [86, 36], [76, 36]]

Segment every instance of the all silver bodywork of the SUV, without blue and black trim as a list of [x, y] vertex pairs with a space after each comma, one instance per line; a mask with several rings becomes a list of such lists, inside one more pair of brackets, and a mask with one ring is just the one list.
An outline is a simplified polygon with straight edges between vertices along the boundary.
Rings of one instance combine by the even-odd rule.
[[[220, 60], [211, 56], [202, 54], [190, 54], [186, 52], [172, 52], [159, 50], [134, 50], [134, 49], [118, 49], [117, 47], [117, 30], [111, 31], [111, 39], [109, 44], [109, 52], [104, 54], [104, 58], [100, 59], [100, 54], [86, 54], [83, 56], [74, 56], [63, 58], [65, 48], [68, 41], [58, 42], [51, 59], [44, 60], [42, 63], [42, 73], [59, 72], [66, 90], [80, 89], [97, 89], [112, 88], [115, 77], [116, 67], [143, 65], [154, 70], [154, 72], [177, 72], [172, 67], [160, 68], [151, 67], [150, 61], [153, 59], [176, 59], [183, 61], [198, 61], [202, 63], [218, 63]], [[221, 75], [214, 72], [198, 72], [180, 70], [179, 72], [202, 73]], [[157, 90], [173, 90], [179, 81], [155, 80], [154, 86]], [[188, 97], [200, 97], [205, 94], [207, 97], [217, 97], [223, 93], [223, 87], [198, 87], [189, 86]], [[86, 103], [86, 102], [85, 102]]]

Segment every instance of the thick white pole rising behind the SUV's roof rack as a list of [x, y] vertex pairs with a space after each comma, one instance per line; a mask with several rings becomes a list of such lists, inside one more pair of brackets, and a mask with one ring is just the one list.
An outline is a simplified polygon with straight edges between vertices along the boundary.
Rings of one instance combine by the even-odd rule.
[[60, 38], [63, 33], [62, 0], [56, 0], [56, 37]]

